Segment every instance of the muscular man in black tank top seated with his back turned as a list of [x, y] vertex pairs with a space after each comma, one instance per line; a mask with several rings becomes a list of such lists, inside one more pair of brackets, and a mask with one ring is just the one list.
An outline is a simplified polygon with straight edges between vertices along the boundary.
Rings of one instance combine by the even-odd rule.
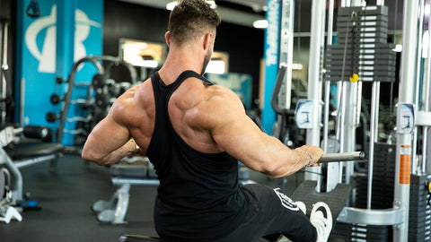
[[326, 241], [331, 221], [323, 212], [314, 212], [313, 226], [277, 189], [238, 184], [236, 160], [284, 177], [316, 166], [323, 151], [308, 145], [290, 150], [262, 133], [233, 91], [201, 76], [219, 24], [205, 1], [180, 1], [165, 34], [170, 52], [164, 65], [117, 99], [82, 156], [101, 165], [136, 153], [151, 160], [160, 180], [154, 224], [163, 241], [255, 241], [279, 234]]

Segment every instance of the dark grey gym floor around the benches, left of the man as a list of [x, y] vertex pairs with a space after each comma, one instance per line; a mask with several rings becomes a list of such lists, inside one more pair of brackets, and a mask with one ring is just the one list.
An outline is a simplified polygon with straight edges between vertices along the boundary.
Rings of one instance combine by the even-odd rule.
[[[155, 186], [132, 186], [126, 220], [128, 224], [103, 224], [95, 219], [92, 203], [109, 200], [118, 187], [110, 184], [110, 169], [83, 161], [77, 155], [58, 159], [57, 171], [48, 162], [21, 169], [24, 193], [41, 209], [22, 212], [22, 221], [0, 223], [0, 241], [118, 241], [123, 234], [155, 236], [153, 205]], [[286, 194], [292, 194], [303, 173], [289, 177]], [[276, 186], [275, 179], [251, 172], [251, 179]]]

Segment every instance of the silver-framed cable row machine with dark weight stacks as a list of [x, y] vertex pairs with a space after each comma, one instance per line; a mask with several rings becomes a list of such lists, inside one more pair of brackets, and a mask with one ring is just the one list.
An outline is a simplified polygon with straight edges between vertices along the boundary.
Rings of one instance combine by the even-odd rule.
[[[352, 186], [355, 194], [349, 194], [347, 197], [330, 238], [341, 241], [357, 239], [429, 241], [431, 170], [427, 164], [430, 150], [427, 144], [429, 136], [427, 129], [431, 120], [429, 118], [431, 55], [428, 54], [427, 59], [422, 57], [424, 48], [420, 40], [424, 29], [425, 2], [420, 1], [419, 4], [404, 2], [396, 144], [391, 144], [390, 139], [388, 143], [381, 143], [378, 130], [381, 82], [394, 82], [394, 73], [397, 71], [392, 52], [394, 46], [387, 43], [388, 10], [383, 1], [377, 1], [376, 6], [365, 6], [362, 2], [343, 1], [342, 7], [339, 8], [336, 45], [331, 45], [331, 32], [328, 33], [322, 147], [328, 151], [330, 82], [337, 82], [338, 86], [339, 106], [336, 110], [335, 139], [339, 145], [334, 147], [339, 147], [341, 152], [356, 149], [355, 130], [360, 117], [363, 82], [371, 82], [367, 173], [354, 173], [348, 162], [330, 164], [327, 167], [326, 180], [311, 173], [306, 174], [304, 182], [304, 184], [314, 182], [318, 191], [320, 189], [326, 193], [312, 191], [312, 187], [300, 186], [293, 198], [301, 200], [303, 196], [299, 194], [312, 191], [316, 193], [316, 199], [321, 199], [322, 196], [335, 191], [339, 184], [346, 183]], [[319, 39], [323, 34], [320, 22], [324, 21], [324, 9], [324, 4], [319, 6], [317, 1], [313, 1], [311, 43], [314, 47], [311, 46], [311, 53], [317, 54], [310, 56], [311, 62], [318, 60], [317, 62], [321, 63], [319, 56], [322, 56], [323, 43], [319, 40], [314, 42], [313, 36]], [[321, 64], [311, 66], [317, 67]], [[313, 114], [320, 114], [322, 84], [320, 67], [315, 70], [309, 69], [309, 77], [311, 105], [304, 107], [303, 110], [309, 108], [308, 111], [312, 111]], [[314, 117], [311, 123], [313, 125], [307, 127], [307, 143], [319, 145], [320, 117]], [[419, 128], [423, 128], [422, 134], [418, 133]], [[419, 139], [421, 143], [418, 142]], [[418, 152], [421, 154], [418, 155]], [[321, 172], [313, 168], [311, 170]], [[323, 184], [326, 187], [322, 187]]]

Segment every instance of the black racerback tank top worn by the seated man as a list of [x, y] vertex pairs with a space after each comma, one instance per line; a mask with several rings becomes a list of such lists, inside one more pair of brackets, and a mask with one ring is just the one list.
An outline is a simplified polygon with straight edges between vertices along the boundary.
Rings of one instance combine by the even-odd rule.
[[155, 124], [147, 155], [160, 180], [154, 224], [161, 238], [212, 241], [236, 229], [244, 220], [248, 206], [238, 183], [237, 160], [226, 152], [194, 150], [172, 126], [169, 99], [189, 77], [212, 85], [193, 71], [181, 73], [170, 85], [165, 85], [158, 73], [151, 77]]

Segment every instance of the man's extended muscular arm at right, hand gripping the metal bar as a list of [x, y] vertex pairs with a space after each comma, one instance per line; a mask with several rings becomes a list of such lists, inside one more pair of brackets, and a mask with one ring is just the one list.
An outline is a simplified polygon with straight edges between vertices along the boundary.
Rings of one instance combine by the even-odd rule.
[[[277, 138], [263, 133], [245, 114], [242, 102], [227, 89], [216, 87], [210, 99], [199, 108], [200, 120], [207, 124], [214, 140], [224, 151], [241, 160], [247, 167], [271, 177], [285, 177], [302, 169], [310, 162], [317, 165], [323, 151], [304, 145], [291, 150]], [[298, 151], [301, 150], [301, 151]]]

